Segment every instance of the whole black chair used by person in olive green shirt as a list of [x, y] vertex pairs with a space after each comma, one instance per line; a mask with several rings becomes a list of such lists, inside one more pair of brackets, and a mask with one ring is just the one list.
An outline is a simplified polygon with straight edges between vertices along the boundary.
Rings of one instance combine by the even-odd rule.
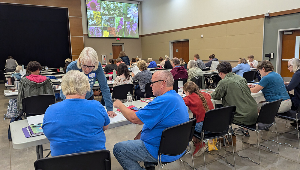
[[[256, 137], [257, 137], [257, 146], [258, 146], [258, 155], [259, 155], [259, 163], [253, 161], [251, 158], [249, 157], [244, 157], [244, 156], [240, 156], [238, 153], [236, 153], [238, 156], [242, 157], [242, 158], [248, 158], [250, 159], [252, 162], [256, 163], [256, 164], [260, 164], [260, 151], [259, 151], [259, 146], [262, 146], [262, 147], [266, 147], [266, 146], [263, 146], [261, 144], [259, 144], [259, 141], [258, 141], [258, 133], [260, 130], [262, 130], [262, 133], [263, 133], [263, 130], [266, 130], [268, 128], [270, 128], [271, 126], [275, 126], [275, 132], [276, 132], [276, 138], [277, 138], [277, 141], [278, 141], [278, 135], [277, 135], [277, 127], [276, 127], [276, 122], [275, 122], [275, 116], [278, 112], [278, 109], [280, 107], [280, 104], [281, 104], [281, 101], [282, 99], [279, 99], [279, 100], [276, 100], [276, 101], [273, 101], [273, 102], [269, 102], [269, 103], [265, 103], [264, 105], [262, 105], [262, 108], [260, 109], [259, 111], [259, 115], [257, 117], [257, 120], [256, 120], [256, 123], [253, 124], [253, 125], [244, 125], [244, 124], [239, 124], [239, 123], [233, 123], [235, 125], [238, 125], [238, 126], [241, 126], [241, 127], [244, 127], [244, 128], [247, 128], [251, 131], [256, 131]], [[277, 142], [276, 141], [276, 142]], [[243, 143], [246, 143], [246, 144], [249, 144], [247, 142], [244, 142], [244, 134], [243, 134], [243, 138], [242, 138], [242, 142]], [[253, 145], [256, 145], [256, 144], [249, 144], [251, 146]], [[271, 151], [268, 147], [266, 147], [270, 152], [272, 153], [279, 153], [279, 144], [277, 143], [277, 147], [278, 147], [278, 152], [273, 152]]]

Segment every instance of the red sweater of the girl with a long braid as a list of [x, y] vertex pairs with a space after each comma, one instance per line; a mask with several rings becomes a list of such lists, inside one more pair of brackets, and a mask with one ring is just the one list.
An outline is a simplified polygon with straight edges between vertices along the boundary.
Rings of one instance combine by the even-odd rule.
[[[209, 110], [214, 109], [214, 105], [210, 100], [211, 96], [204, 92], [200, 93], [202, 93], [204, 98], [206, 99]], [[185, 105], [190, 108], [190, 111], [192, 111], [193, 116], [196, 117], [197, 123], [202, 122], [205, 117], [205, 109], [200, 97], [196, 93], [192, 93], [184, 97], [183, 100]]]

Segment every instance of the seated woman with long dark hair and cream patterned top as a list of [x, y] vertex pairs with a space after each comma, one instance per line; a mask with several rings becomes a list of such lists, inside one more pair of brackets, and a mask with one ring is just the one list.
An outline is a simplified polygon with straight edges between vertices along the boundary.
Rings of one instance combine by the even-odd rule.
[[[122, 84], [133, 84], [132, 78], [129, 75], [128, 67], [125, 63], [121, 63], [117, 70], [117, 77], [113, 81], [113, 87], [119, 86]], [[113, 102], [115, 102], [116, 99], [113, 99]], [[127, 102], [126, 99], [121, 100], [122, 103]]]

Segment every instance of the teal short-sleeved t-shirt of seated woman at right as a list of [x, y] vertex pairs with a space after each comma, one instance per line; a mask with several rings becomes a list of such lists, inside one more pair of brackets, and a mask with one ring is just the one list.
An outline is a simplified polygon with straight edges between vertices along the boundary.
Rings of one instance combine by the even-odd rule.
[[279, 99], [290, 99], [283, 83], [282, 77], [280, 76], [280, 74], [274, 71], [262, 77], [258, 85], [264, 87], [262, 89], [262, 93], [265, 96], [266, 102], [273, 102]]

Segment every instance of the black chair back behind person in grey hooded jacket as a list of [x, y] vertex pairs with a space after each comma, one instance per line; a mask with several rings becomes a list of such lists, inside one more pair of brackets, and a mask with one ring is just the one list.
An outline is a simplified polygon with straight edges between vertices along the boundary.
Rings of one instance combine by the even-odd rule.
[[55, 96], [42, 94], [24, 97], [22, 99], [23, 112], [26, 114], [45, 114], [49, 105], [55, 104]]

